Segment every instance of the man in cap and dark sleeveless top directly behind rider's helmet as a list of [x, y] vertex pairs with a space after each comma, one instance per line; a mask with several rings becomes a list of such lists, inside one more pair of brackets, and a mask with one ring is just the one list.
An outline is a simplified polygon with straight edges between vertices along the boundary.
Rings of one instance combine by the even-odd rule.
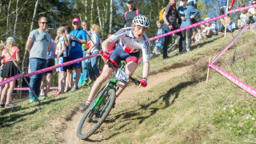
[[128, 7], [128, 10], [124, 14], [123, 22], [125, 24], [125, 27], [130, 27], [134, 17], [138, 16], [138, 14], [142, 14], [142, 12], [141, 10], [134, 8], [133, 0], [127, 0], [126, 6]]

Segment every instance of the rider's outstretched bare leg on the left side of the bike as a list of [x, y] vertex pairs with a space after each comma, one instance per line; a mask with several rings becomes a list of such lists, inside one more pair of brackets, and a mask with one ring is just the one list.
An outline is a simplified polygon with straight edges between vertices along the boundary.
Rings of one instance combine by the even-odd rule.
[[94, 86], [90, 90], [88, 101], [92, 101], [94, 96], [98, 93], [98, 90], [102, 87], [102, 83], [106, 82], [107, 78], [110, 77], [110, 74], [113, 72], [113, 69], [108, 65], [105, 65], [102, 70], [102, 74], [94, 82]]

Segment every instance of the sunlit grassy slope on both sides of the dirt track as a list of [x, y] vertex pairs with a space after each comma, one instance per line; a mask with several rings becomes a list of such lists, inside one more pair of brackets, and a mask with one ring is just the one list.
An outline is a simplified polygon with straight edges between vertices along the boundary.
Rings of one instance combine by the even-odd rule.
[[[246, 31], [215, 64], [255, 87], [254, 34]], [[121, 102], [102, 125], [105, 143], [247, 143], [256, 142], [256, 101], [234, 83], [211, 70], [207, 62], [226, 46], [232, 35], [194, 44], [193, 51], [162, 61], [150, 61], [150, 74], [190, 66], [187, 74], [162, 82], [129, 103]], [[134, 77], [141, 78], [142, 66]], [[20, 103], [0, 111], [0, 143], [59, 143], [78, 106], [90, 89], [50, 97], [42, 109]], [[225, 109], [225, 110], [224, 110]]]

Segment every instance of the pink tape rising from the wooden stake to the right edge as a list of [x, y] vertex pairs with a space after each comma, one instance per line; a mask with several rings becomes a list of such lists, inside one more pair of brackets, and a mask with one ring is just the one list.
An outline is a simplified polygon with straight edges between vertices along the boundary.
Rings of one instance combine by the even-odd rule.
[[220, 58], [222, 56], [222, 54], [224, 54], [226, 52], [226, 50], [228, 50], [230, 48], [230, 46], [232, 46], [234, 44], [234, 42], [242, 35], [242, 33], [248, 28], [253, 28], [256, 26], [256, 22], [254, 24], [252, 24], [251, 26], [244, 26], [242, 28], [242, 30], [239, 31], [239, 33], [212, 59], [212, 63], [216, 62], [218, 60], [218, 58]]

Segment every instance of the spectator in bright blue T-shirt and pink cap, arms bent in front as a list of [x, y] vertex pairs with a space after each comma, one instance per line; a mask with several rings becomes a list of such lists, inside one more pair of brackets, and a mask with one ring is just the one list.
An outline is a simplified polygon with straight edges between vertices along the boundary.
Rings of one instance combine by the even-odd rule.
[[[69, 60], [73, 61], [78, 58], [82, 58], [82, 44], [86, 44], [87, 38], [86, 38], [86, 31], [80, 29], [80, 21], [78, 18], [74, 18], [72, 21], [72, 26], [74, 27], [74, 30], [70, 32], [70, 55]], [[72, 74], [72, 70], [74, 68], [77, 77], [74, 82], [74, 86], [71, 88], [71, 92], [78, 90], [78, 81], [81, 75], [81, 66], [82, 62], [74, 63], [73, 65], [68, 66], [67, 74]], [[69, 79], [71, 82], [72, 79]]]

